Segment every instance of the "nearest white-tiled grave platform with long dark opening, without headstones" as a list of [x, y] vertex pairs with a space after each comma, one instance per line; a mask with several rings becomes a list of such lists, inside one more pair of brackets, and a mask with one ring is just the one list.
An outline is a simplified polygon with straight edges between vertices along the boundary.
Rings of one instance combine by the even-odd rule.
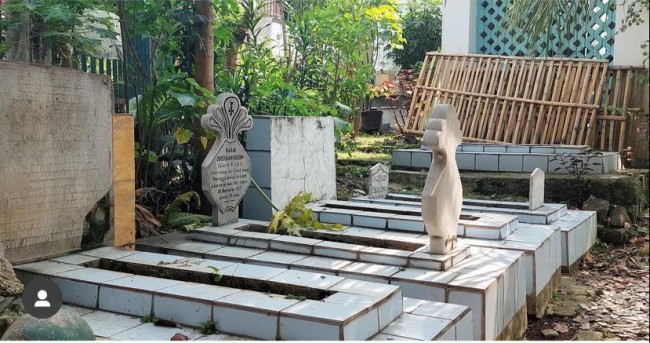
[[[209, 266], [219, 269], [219, 285], [211, 282], [216, 273]], [[473, 316], [467, 306], [405, 301], [398, 286], [318, 272], [117, 248], [23, 264], [15, 270], [25, 283], [51, 279], [67, 304], [130, 316], [151, 315], [190, 327], [214, 321], [219, 332], [236, 338], [473, 338]], [[122, 339], [129, 337], [133, 336]]]

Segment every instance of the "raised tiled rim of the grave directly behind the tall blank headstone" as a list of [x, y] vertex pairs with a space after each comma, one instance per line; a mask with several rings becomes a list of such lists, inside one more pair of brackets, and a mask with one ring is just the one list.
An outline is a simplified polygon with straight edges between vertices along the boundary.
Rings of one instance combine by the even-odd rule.
[[[322, 223], [387, 229], [425, 234], [419, 204], [395, 206], [360, 201], [326, 200], [308, 204]], [[460, 237], [499, 240], [517, 228], [516, 216], [462, 211], [457, 233]]]

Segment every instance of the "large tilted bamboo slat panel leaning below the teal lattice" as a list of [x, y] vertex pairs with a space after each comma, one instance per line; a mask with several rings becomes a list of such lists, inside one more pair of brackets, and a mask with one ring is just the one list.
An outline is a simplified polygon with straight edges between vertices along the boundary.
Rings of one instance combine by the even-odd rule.
[[592, 145], [607, 70], [589, 59], [431, 52], [405, 132], [421, 135], [431, 106], [446, 103], [467, 140]]

